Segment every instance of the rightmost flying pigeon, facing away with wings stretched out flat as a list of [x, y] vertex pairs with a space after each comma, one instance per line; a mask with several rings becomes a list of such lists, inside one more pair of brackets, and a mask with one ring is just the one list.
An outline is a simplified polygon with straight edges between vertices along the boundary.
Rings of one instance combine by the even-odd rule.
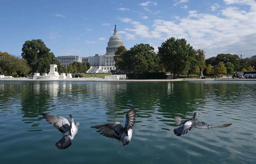
[[174, 134], [177, 136], [181, 136], [182, 134], [186, 134], [188, 130], [191, 130], [192, 128], [197, 128], [197, 129], [210, 129], [210, 128], [225, 128], [228, 127], [231, 124], [223, 124], [220, 126], [215, 126], [211, 124], [207, 124], [205, 122], [200, 122], [197, 119], [198, 112], [195, 112], [194, 116], [190, 120], [182, 120], [179, 116], [175, 116], [175, 123], [178, 126], [181, 126], [179, 128], [176, 128], [173, 130]]

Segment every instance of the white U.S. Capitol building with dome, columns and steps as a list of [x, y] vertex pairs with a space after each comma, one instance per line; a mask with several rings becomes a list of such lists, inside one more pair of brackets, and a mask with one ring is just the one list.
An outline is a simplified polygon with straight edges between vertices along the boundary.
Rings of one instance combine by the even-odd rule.
[[106, 47], [106, 54], [89, 57], [81, 56], [58, 56], [58, 60], [62, 66], [68, 66], [73, 62], [80, 63], [90, 63], [91, 68], [87, 73], [108, 73], [111, 70], [115, 70], [115, 60], [114, 55], [119, 46], [123, 46], [124, 43], [120, 35], [117, 34], [117, 29], [115, 25], [114, 34], [109, 38], [108, 46]]

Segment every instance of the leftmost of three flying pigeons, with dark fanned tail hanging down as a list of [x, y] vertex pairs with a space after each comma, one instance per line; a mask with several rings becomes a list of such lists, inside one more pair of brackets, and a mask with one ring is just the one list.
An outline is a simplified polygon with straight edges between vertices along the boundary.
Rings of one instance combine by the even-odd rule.
[[80, 125], [79, 122], [75, 124], [71, 114], [69, 115], [71, 119], [70, 123], [66, 118], [61, 116], [55, 116], [48, 113], [43, 113], [42, 115], [49, 124], [53, 124], [55, 128], [63, 133], [63, 137], [55, 144], [56, 147], [58, 149], [68, 148], [71, 145], [71, 140], [74, 139], [78, 131], [78, 126]]

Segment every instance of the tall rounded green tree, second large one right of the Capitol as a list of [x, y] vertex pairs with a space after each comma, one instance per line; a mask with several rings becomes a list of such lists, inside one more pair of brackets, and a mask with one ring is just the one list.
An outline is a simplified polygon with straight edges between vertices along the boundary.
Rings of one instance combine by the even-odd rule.
[[195, 55], [195, 50], [185, 39], [171, 37], [158, 47], [158, 55], [166, 71], [173, 73], [176, 78], [177, 73], [188, 72], [190, 61]]

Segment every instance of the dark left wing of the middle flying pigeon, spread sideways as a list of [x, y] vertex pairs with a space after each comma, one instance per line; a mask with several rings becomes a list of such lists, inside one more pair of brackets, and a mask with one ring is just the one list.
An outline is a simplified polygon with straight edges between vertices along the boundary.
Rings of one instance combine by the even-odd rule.
[[120, 141], [121, 135], [124, 131], [123, 126], [119, 122], [111, 122], [108, 124], [92, 126], [91, 128], [100, 129], [97, 132], [101, 132], [101, 135], [109, 138], [115, 138], [118, 141]]

